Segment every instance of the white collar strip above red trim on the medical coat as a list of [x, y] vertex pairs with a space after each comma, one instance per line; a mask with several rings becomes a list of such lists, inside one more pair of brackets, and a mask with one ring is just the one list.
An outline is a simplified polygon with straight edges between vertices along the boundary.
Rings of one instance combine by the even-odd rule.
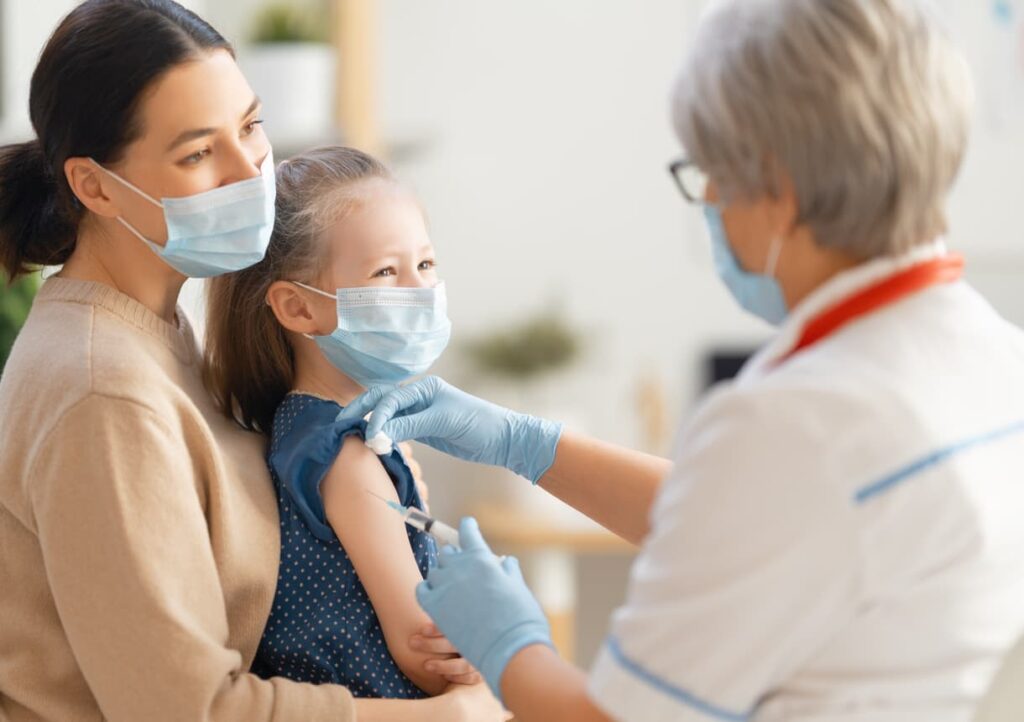
[[882, 279], [932, 258], [944, 256], [947, 252], [945, 241], [938, 239], [898, 256], [874, 258], [837, 273], [814, 289], [791, 311], [776, 336], [743, 367], [740, 378], [761, 376], [773, 368], [800, 340], [804, 326], [825, 309]]

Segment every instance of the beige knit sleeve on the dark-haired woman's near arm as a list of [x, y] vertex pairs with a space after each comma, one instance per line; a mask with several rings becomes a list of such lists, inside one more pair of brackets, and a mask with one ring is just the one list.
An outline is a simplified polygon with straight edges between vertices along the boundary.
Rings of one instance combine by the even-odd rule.
[[[346, 722], [337, 685], [262, 680], [228, 648], [191, 454], [153, 410], [91, 395], [35, 454], [31, 502], [75, 657], [111, 722]], [[212, 503], [212, 502], [211, 502]]]

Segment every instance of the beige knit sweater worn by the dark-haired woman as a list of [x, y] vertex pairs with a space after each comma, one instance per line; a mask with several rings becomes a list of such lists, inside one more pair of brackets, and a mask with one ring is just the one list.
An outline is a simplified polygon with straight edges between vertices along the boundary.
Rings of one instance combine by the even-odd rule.
[[187, 324], [47, 281], [0, 381], [0, 720], [354, 719], [343, 687], [247, 672], [279, 554], [262, 440]]

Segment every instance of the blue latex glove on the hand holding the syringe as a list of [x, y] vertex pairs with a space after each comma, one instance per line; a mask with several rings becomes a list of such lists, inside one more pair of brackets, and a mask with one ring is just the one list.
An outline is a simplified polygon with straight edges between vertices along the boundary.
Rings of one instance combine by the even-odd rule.
[[437, 566], [416, 588], [416, 598], [501, 699], [509, 661], [530, 644], [553, 647], [551, 628], [518, 559], [495, 556], [471, 516], [459, 525], [459, 544], [461, 551], [441, 550]]

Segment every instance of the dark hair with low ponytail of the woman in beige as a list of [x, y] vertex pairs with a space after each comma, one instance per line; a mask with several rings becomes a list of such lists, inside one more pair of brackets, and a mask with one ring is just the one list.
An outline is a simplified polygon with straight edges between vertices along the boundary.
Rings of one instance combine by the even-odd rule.
[[137, 112], [152, 84], [215, 49], [233, 53], [171, 0], [86, 0], [61, 20], [32, 74], [36, 139], [0, 147], [0, 266], [8, 279], [61, 264], [75, 250], [84, 210], [65, 161], [120, 160], [142, 132]]

